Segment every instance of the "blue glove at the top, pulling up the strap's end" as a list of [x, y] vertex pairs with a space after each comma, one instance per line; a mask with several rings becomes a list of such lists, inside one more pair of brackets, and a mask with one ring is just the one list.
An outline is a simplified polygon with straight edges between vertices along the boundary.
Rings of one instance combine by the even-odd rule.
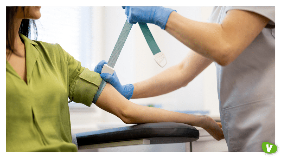
[[137, 22], [151, 23], [160, 26], [163, 30], [170, 14], [176, 11], [162, 6], [122, 6], [122, 8], [125, 9], [130, 24], [136, 24]]

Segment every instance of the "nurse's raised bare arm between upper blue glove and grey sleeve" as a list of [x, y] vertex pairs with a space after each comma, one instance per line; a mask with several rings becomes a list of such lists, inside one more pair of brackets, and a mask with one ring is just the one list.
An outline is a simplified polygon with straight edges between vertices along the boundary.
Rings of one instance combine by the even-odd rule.
[[225, 66], [250, 45], [268, 21], [243, 10], [229, 10], [222, 24], [197, 22], [172, 12], [165, 30], [190, 49]]

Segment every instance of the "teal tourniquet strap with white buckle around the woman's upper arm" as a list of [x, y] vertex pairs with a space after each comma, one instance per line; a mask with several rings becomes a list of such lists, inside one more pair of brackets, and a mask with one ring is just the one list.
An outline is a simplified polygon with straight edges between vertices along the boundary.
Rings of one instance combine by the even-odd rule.
[[[107, 65], [103, 66], [103, 70], [101, 70], [102, 73], [104, 72], [108, 72], [110, 74], [113, 74], [114, 72], [114, 65], [119, 57], [119, 54], [124, 46], [124, 43], [130, 33], [130, 30], [132, 28], [133, 24], [130, 24], [128, 23], [128, 21], [126, 20], [124, 26], [123, 26], [123, 29], [119, 35], [119, 38], [115, 44], [115, 47], [112, 51], [112, 54], [108, 60], [108, 63]], [[161, 67], [164, 67], [167, 63], [167, 60], [166, 60], [166, 57], [165, 55], [160, 51], [159, 47], [157, 46], [148, 26], [146, 25], [146, 23], [139, 23], [139, 26], [140, 26], [140, 29], [142, 30], [142, 33], [146, 39], [146, 42], [148, 43], [149, 45], [149, 48], [151, 50], [151, 52], [153, 53], [154, 55], [154, 59], [155, 61], [158, 63], [158, 65], [160, 65]], [[109, 67], [108, 67], [109, 66]], [[110, 70], [111, 69], [111, 70]], [[103, 72], [104, 71], [104, 72]], [[101, 81], [101, 84], [99, 86], [99, 89], [96, 93], [96, 95], [94, 96], [94, 99], [93, 99], [93, 103], [96, 104], [98, 98], [99, 98], [99, 95], [101, 94], [101, 92], [103, 91], [103, 88], [105, 87], [106, 85], [106, 81]]]

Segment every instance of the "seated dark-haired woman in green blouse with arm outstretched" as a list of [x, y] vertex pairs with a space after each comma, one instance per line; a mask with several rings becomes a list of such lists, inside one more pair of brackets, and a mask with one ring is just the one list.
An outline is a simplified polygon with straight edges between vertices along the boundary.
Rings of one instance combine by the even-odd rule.
[[[76, 152], [68, 98], [90, 106], [102, 79], [60, 45], [28, 38], [33, 19], [40, 16], [40, 7], [6, 7], [6, 151]], [[202, 127], [217, 140], [224, 138], [221, 124], [209, 116], [140, 106], [111, 84], [96, 105], [124, 123], [186, 123]]]

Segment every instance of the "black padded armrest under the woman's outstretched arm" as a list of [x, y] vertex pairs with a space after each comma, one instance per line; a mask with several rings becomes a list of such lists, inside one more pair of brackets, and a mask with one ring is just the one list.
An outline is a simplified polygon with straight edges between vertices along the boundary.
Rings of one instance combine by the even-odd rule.
[[199, 139], [199, 131], [184, 123], [144, 123], [76, 134], [78, 146], [149, 139], [150, 144], [184, 143]]

